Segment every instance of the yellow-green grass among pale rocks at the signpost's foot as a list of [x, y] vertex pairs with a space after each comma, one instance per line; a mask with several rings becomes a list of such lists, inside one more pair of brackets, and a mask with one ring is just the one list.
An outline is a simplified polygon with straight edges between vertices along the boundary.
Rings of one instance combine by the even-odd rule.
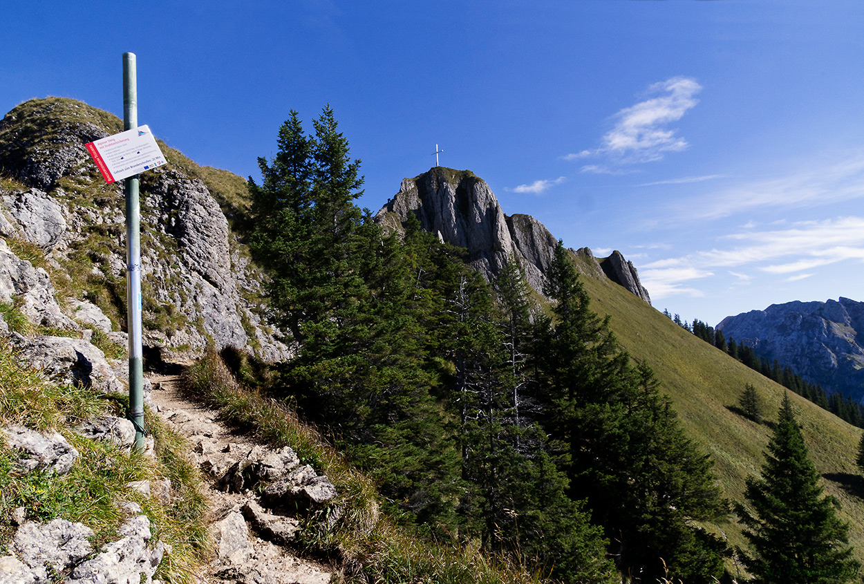
[[[166, 584], [193, 584], [194, 572], [210, 549], [204, 521], [207, 502], [194, 465], [183, 457], [181, 436], [149, 416], [156, 437], [156, 460], [127, 452], [105, 441], [91, 441], [76, 428], [94, 416], [124, 409], [122, 397], [105, 396], [73, 385], [54, 384], [41, 373], [22, 368], [16, 354], [0, 341], [0, 426], [23, 425], [54, 429], [79, 451], [72, 470], [64, 476], [36, 471], [16, 472], [16, 453], [0, 444], [0, 553], [14, 536], [12, 511], [24, 507], [27, 518], [47, 522], [54, 517], [80, 522], [93, 530], [92, 545], [116, 539], [125, 520], [118, 504], [136, 502], [150, 519], [152, 542], [171, 546], [156, 577]], [[3, 434], [0, 433], [0, 442]], [[171, 480], [171, 498], [162, 503], [128, 486], [135, 480]]]

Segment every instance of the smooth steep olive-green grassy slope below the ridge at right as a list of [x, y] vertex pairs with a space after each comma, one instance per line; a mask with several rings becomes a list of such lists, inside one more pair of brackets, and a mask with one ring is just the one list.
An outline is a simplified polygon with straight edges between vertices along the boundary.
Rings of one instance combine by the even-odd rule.
[[[598, 314], [609, 314], [619, 343], [633, 357], [644, 359], [662, 382], [662, 390], [675, 403], [688, 435], [715, 460], [715, 473], [726, 496], [742, 500], [744, 481], [759, 473], [771, 429], [735, 414], [747, 383], [753, 384], [773, 419], [785, 388], [741, 365], [670, 321], [622, 287], [581, 277]], [[854, 458], [861, 430], [790, 393], [802, 424], [810, 458], [823, 477], [826, 492], [838, 498], [841, 517], [850, 522], [850, 543], [864, 561], [864, 489], [857, 479]], [[859, 494], [855, 494], [855, 493]], [[733, 516], [734, 518], [734, 516]], [[721, 525], [734, 545], [744, 545], [737, 525]]]

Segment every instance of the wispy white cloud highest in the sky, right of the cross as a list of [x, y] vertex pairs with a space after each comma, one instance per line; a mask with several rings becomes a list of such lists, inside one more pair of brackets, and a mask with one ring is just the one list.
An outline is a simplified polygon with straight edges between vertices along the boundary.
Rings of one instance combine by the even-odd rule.
[[[562, 156], [576, 161], [590, 156], [605, 155], [619, 164], [661, 160], [667, 152], [680, 152], [689, 147], [687, 140], [668, 126], [680, 120], [699, 100], [696, 93], [702, 86], [689, 77], [673, 77], [648, 88], [654, 96], [631, 105], [613, 116], [615, 125], [600, 140], [600, 148], [584, 149]], [[586, 165], [582, 172], [597, 172], [605, 168]]]

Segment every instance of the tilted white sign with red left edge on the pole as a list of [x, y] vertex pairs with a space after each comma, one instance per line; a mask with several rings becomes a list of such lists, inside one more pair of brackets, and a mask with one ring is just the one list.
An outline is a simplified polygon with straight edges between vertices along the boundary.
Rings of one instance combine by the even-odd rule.
[[88, 142], [86, 147], [105, 182], [140, 175], [145, 170], [167, 163], [147, 126]]

